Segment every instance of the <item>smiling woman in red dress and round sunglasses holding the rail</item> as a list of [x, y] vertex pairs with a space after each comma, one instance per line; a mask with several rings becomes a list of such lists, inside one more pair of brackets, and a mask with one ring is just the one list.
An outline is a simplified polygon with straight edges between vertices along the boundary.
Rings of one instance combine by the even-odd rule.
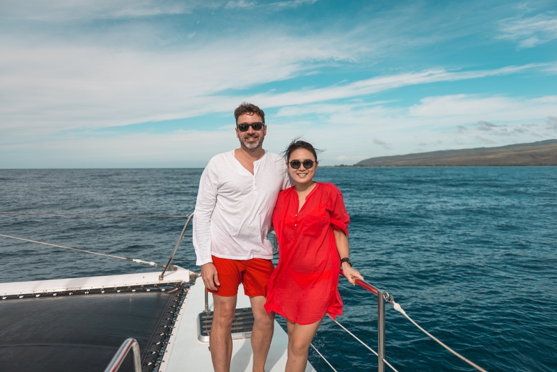
[[281, 249], [267, 292], [267, 313], [287, 320], [286, 371], [305, 371], [308, 348], [325, 313], [343, 313], [338, 274], [352, 285], [363, 277], [352, 269], [348, 248], [348, 216], [343, 195], [331, 183], [313, 181], [315, 148], [292, 141], [285, 151], [295, 186], [278, 194], [273, 226]]

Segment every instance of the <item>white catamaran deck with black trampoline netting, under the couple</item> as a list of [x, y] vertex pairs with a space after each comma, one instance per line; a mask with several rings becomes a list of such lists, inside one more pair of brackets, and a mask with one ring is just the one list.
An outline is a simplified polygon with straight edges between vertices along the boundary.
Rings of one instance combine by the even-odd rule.
[[[189, 284], [189, 270], [175, 266], [162, 281], [148, 272], [0, 284], [1, 370], [104, 371], [132, 337], [142, 372], [212, 371], [209, 343], [198, 339], [205, 287], [201, 278]], [[243, 293], [238, 308], [250, 307]], [[251, 371], [249, 334], [233, 340], [230, 371]], [[284, 371], [287, 345], [275, 322], [266, 371]], [[132, 371], [130, 356], [120, 371]]]

